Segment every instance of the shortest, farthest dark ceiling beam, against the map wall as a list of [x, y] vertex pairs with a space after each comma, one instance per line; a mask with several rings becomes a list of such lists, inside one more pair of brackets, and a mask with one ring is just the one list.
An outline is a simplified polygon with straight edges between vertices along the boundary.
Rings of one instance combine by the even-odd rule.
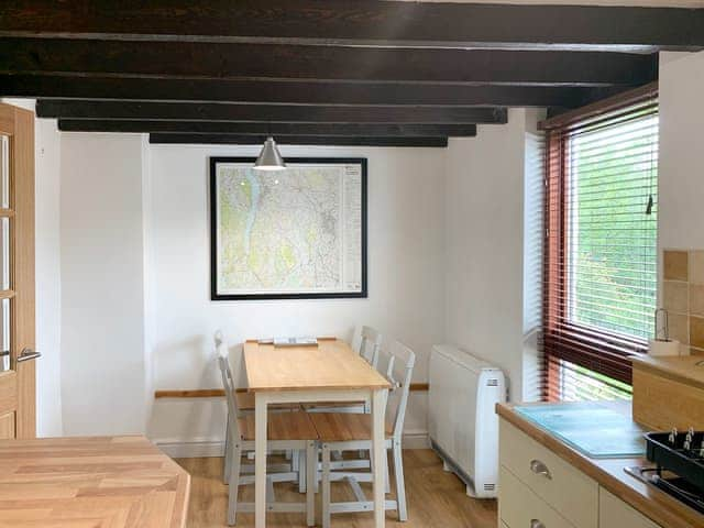
[[[221, 144], [261, 145], [264, 135], [237, 134], [150, 134], [153, 144]], [[448, 146], [447, 138], [346, 138], [333, 135], [285, 135], [279, 145], [336, 145], [336, 146]]]

